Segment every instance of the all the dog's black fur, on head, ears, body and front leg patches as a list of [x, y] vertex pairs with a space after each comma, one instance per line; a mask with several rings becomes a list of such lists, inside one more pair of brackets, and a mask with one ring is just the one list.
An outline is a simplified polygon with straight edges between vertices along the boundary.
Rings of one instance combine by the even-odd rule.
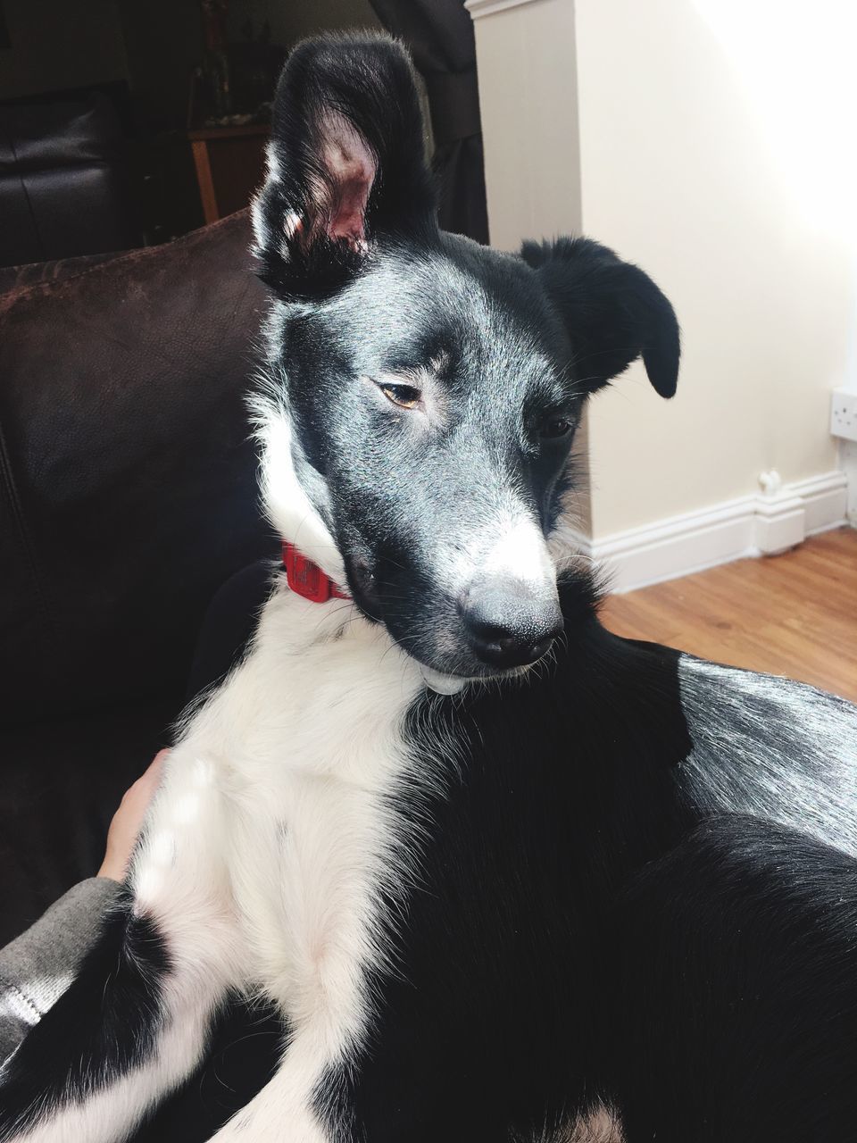
[[[273, 151], [259, 254], [298, 477], [370, 620], [426, 670], [496, 673], [466, 636], [473, 584], [444, 573], [498, 489], [551, 534], [591, 392], [639, 355], [674, 392], [672, 306], [585, 239], [516, 258], [441, 234], [409, 63], [383, 38], [296, 49]], [[419, 769], [448, 772], [394, 798], [414, 886], [370, 1039], [319, 1116], [367, 1143], [530, 1143], [599, 1103], [626, 1143], [851, 1138], [857, 710], [619, 639], [585, 574], [550, 592], [564, 631], [529, 676], [408, 713]], [[88, 1061], [105, 1077], [151, 1052], [168, 968], [151, 926], [111, 921], [15, 1057], [7, 1134]], [[264, 1042], [259, 1076], [275, 1021]], [[149, 1130], [200, 1137], [199, 1119]]]

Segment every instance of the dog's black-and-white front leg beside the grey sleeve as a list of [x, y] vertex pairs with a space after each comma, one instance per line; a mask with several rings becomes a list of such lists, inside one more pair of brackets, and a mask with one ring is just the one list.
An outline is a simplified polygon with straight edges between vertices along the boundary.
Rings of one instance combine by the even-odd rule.
[[221, 800], [215, 768], [178, 746], [125, 898], [0, 1072], [2, 1143], [121, 1143], [198, 1064], [238, 977]]

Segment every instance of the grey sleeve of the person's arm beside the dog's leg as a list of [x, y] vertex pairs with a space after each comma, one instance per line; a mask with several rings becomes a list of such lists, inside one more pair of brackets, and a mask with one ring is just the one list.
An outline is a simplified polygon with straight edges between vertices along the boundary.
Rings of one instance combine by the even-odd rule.
[[81, 881], [0, 950], [0, 1063], [65, 992], [121, 892], [105, 877]]

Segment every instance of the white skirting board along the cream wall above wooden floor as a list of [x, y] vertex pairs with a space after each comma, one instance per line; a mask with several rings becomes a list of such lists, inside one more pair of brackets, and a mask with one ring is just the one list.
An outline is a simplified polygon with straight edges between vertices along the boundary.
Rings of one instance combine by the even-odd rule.
[[794, 547], [814, 533], [847, 523], [847, 498], [846, 474], [827, 472], [774, 495], [742, 496], [603, 539], [576, 538], [603, 568], [609, 590], [622, 593]]

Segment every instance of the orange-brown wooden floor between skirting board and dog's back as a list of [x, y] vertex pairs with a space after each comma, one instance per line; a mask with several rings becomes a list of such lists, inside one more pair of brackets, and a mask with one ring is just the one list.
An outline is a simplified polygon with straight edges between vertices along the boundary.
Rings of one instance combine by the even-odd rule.
[[857, 702], [857, 530], [606, 600], [608, 628]]

